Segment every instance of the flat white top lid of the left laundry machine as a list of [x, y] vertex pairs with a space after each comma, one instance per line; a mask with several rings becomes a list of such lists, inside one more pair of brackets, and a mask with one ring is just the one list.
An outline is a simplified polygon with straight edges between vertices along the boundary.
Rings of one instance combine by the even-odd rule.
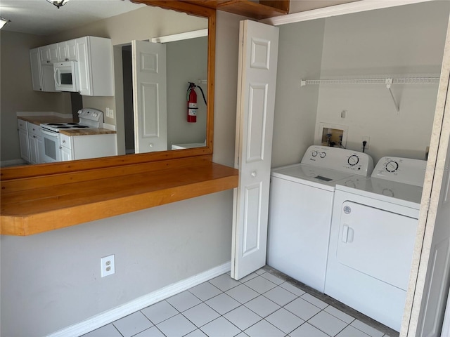
[[[273, 169], [271, 176], [290, 180], [295, 183], [304, 183], [314, 187], [334, 191], [335, 185], [340, 180], [352, 179], [350, 173], [324, 169], [323, 167], [307, 164], [293, 164]], [[361, 177], [359, 177], [361, 178]], [[345, 183], [343, 183], [345, 185]]]

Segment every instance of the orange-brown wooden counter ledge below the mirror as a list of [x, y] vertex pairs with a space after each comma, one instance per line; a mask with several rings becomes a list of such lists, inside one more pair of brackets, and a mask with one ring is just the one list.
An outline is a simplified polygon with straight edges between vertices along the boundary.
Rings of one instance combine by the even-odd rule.
[[57, 230], [237, 186], [238, 171], [210, 156], [4, 180], [0, 234]]

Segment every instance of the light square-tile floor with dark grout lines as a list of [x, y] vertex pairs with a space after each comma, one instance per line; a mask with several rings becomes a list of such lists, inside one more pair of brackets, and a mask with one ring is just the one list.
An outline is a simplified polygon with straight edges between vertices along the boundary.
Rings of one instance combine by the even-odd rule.
[[239, 281], [221, 275], [83, 337], [398, 336], [333, 301], [266, 266]]

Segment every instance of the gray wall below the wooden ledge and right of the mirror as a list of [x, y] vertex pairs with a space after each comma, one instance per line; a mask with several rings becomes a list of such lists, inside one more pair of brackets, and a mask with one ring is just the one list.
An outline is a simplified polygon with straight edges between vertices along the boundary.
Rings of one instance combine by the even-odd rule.
[[[214, 160], [229, 165], [238, 19], [217, 15]], [[230, 69], [236, 74], [225, 74]], [[232, 214], [229, 190], [30, 237], [1, 236], [1, 336], [43, 336], [226, 263]], [[116, 273], [102, 279], [100, 258], [109, 254]]]

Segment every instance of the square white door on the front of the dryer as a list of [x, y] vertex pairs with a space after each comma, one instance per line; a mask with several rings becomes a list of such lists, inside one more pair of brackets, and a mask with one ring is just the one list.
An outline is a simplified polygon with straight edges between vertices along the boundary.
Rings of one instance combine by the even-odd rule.
[[418, 220], [352, 201], [340, 213], [339, 263], [406, 290]]

